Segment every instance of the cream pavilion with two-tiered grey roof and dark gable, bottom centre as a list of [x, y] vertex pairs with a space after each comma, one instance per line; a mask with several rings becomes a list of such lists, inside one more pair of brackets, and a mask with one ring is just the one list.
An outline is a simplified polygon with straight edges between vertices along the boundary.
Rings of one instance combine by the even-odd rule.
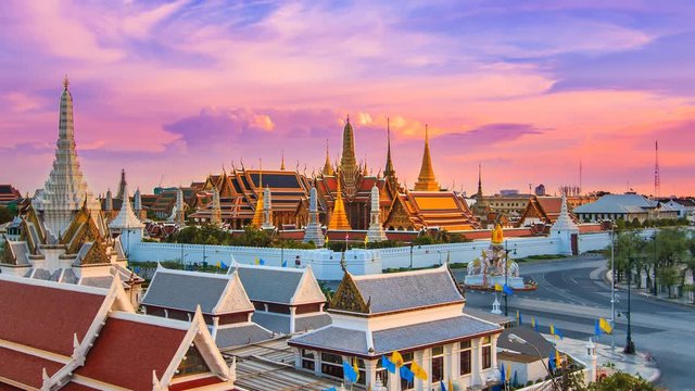
[[[456, 389], [500, 381], [496, 364], [502, 327], [463, 312], [465, 299], [447, 265], [384, 275], [345, 275], [333, 295], [331, 325], [288, 341], [295, 366], [348, 382], [343, 362], [356, 363], [357, 383], [387, 390], [431, 390], [440, 381]], [[399, 352], [404, 366], [421, 367], [413, 382], [382, 367]]]

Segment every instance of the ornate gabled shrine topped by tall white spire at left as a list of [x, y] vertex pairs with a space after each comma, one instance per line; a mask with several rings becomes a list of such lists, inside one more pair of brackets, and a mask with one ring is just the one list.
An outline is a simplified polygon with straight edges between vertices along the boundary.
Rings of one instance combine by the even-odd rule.
[[[143, 280], [126, 268], [121, 240], [112, 238], [100, 202], [83, 177], [75, 152], [68, 86], [65, 78], [52, 169], [43, 188], [36, 191], [30, 203], [23, 204], [20, 240], [5, 240], [0, 272], [102, 288], [115, 279], [135, 304]], [[142, 229], [132, 228], [130, 235], [142, 235]]]

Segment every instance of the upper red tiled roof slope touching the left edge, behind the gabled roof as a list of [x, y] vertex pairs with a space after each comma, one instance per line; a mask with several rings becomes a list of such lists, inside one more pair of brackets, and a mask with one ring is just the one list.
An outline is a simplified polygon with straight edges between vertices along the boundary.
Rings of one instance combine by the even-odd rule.
[[0, 280], [0, 298], [12, 319], [0, 321], [0, 339], [70, 356], [73, 333], [85, 338], [105, 295]]

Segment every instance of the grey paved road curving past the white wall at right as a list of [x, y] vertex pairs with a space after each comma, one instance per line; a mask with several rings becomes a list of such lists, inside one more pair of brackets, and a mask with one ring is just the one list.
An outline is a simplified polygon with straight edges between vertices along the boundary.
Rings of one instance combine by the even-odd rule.
[[[521, 264], [521, 275], [534, 279], [539, 289], [509, 298], [508, 314], [516, 316], [519, 310], [527, 323], [534, 316], [542, 332], [553, 323], [567, 337], [587, 339], [594, 333], [594, 319], [610, 318], [610, 286], [602, 277], [605, 265], [595, 256]], [[463, 280], [465, 270], [455, 274]], [[627, 291], [618, 294], [616, 312], [627, 311]], [[493, 299], [493, 293], [467, 292], [470, 307], [490, 311]], [[695, 310], [635, 294], [631, 306], [632, 339], [639, 351], [657, 361], [658, 386], [695, 390]], [[617, 318], [616, 349], [624, 346], [627, 328], [627, 319]], [[602, 336], [599, 342], [610, 344], [610, 337]]]

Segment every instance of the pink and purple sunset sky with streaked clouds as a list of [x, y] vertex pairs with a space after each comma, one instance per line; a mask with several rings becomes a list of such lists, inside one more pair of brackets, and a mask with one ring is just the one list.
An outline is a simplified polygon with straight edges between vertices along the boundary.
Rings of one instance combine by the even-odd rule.
[[[443, 187], [695, 193], [695, 2], [2, 1], [0, 182], [50, 172], [64, 75], [90, 188], [187, 186], [235, 166], [311, 175], [350, 115], [376, 175], [390, 118]], [[261, 160], [261, 161], [260, 161]]]

